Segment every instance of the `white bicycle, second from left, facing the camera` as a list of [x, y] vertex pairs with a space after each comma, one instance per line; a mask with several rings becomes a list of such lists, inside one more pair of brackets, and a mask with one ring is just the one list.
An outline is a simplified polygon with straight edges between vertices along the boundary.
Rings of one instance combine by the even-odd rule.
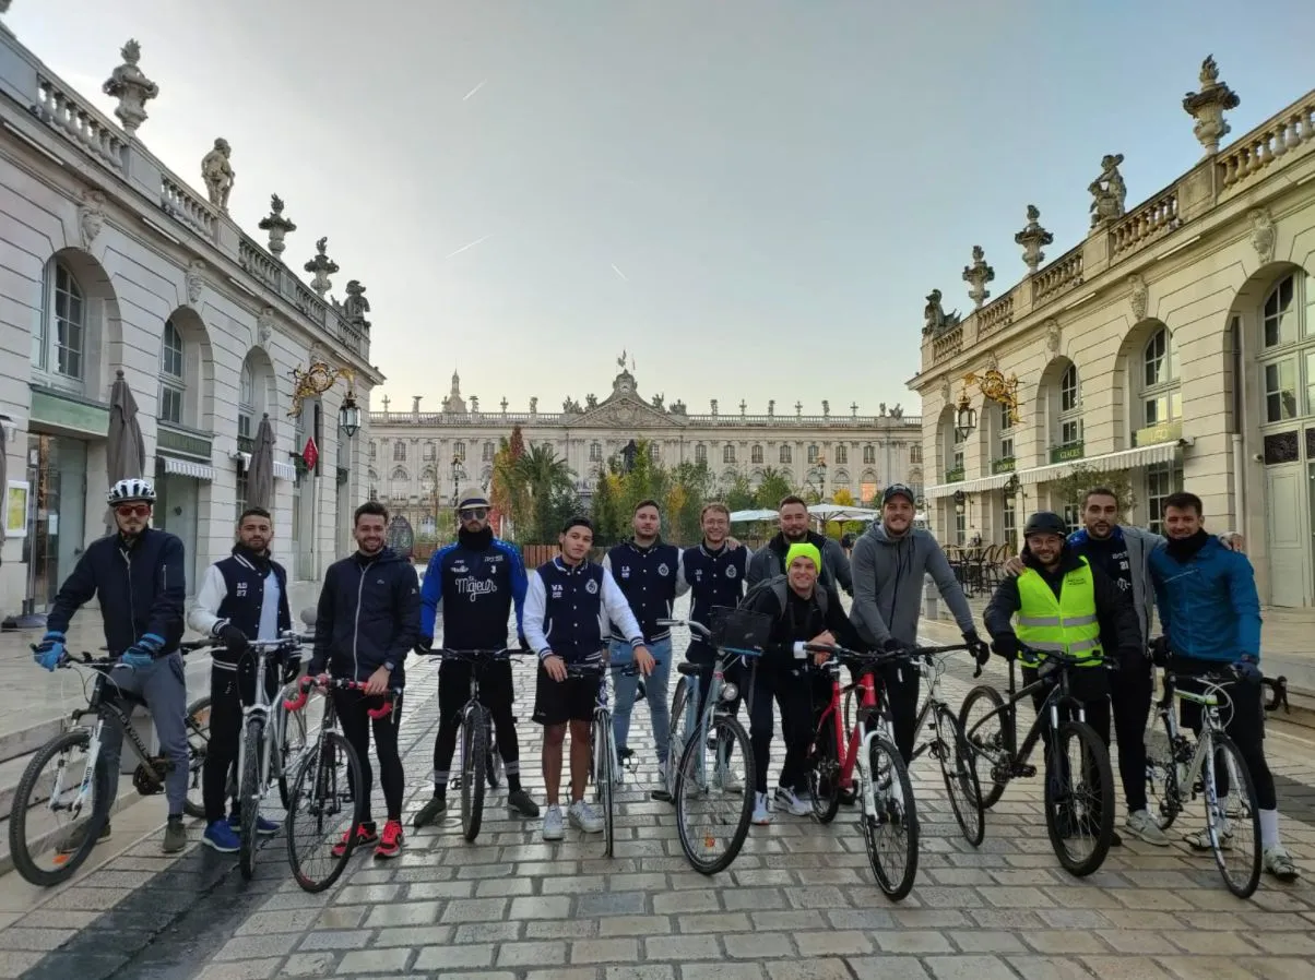
[[[306, 720], [300, 713], [289, 712], [281, 696], [271, 696], [266, 688], [266, 666], [270, 654], [285, 654], [281, 665], [285, 670], [291, 666], [292, 656], [297, 654], [300, 662], [300, 645], [314, 641], [314, 635], [297, 635], [288, 632], [281, 640], [250, 640], [247, 649], [255, 654], [255, 699], [251, 704], [242, 705], [242, 741], [238, 744], [238, 786], [233, 797], [238, 800], [238, 867], [242, 878], [251, 880], [255, 874], [255, 851], [258, 843], [256, 821], [260, 818], [260, 801], [274, 783], [279, 784], [279, 797], [287, 811], [289, 804], [288, 793], [288, 759], [293, 751], [293, 740], [300, 740], [300, 747], [306, 745]], [[280, 677], [284, 674], [280, 671]], [[284, 690], [289, 687], [284, 686]], [[271, 737], [266, 738], [266, 728], [271, 725]], [[289, 721], [292, 738], [289, 738]], [[277, 751], [274, 746], [277, 745]]]

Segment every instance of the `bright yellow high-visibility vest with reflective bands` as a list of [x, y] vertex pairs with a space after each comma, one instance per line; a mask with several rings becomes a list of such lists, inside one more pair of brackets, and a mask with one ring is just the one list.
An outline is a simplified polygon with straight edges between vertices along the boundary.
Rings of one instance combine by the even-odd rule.
[[1041, 656], [1066, 653], [1084, 661], [1080, 666], [1094, 667], [1105, 653], [1095, 617], [1091, 566], [1086, 558], [1081, 562], [1082, 568], [1064, 575], [1057, 596], [1036, 570], [1026, 569], [1018, 577], [1019, 608], [1014, 632], [1024, 646]]

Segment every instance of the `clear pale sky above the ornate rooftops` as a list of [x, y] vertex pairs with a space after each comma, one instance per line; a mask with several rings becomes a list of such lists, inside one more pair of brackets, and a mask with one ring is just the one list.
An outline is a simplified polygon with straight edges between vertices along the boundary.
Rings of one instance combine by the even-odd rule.
[[1056, 257], [1103, 154], [1130, 206], [1191, 167], [1210, 53], [1232, 137], [1315, 80], [1308, 0], [14, 0], [7, 24], [105, 112], [138, 38], [142, 141], [201, 188], [227, 138], [234, 217], [263, 242], [277, 192], [299, 272], [329, 235], [394, 409], [456, 367], [485, 410], [555, 410], [626, 349], [690, 411], [917, 411], [923, 297], [970, 309], [973, 244], [998, 296], [1027, 204]]

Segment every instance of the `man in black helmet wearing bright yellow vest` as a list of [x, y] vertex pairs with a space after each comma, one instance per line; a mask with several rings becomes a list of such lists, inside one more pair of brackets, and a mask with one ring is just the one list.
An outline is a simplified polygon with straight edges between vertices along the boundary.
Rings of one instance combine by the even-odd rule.
[[[1069, 690], [1082, 702], [1086, 723], [1110, 745], [1110, 684], [1101, 669], [1106, 644], [1118, 644], [1111, 658], [1141, 656], [1141, 627], [1136, 611], [1123, 600], [1105, 571], [1080, 557], [1068, 544], [1068, 525], [1059, 514], [1040, 511], [1023, 529], [1023, 564], [1018, 578], [1006, 577], [982, 616], [995, 652], [1022, 657], [1023, 648], [1044, 659], [1047, 652], [1065, 652], [1084, 661], [1069, 674]], [[1016, 625], [1014, 617], [1018, 617]], [[1031, 657], [1027, 657], [1031, 659]], [[1023, 667], [1032, 683], [1038, 667]], [[1038, 708], [1044, 692], [1034, 696]]]

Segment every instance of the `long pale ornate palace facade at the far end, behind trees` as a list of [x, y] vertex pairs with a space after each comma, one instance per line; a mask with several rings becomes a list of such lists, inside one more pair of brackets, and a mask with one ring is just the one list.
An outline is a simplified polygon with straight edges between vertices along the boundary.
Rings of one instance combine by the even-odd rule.
[[639, 439], [665, 466], [706, 462], [723, 486], [738, 476], [756, 485], [769, 468], [827, 499], [840, 487], [855, 501], [871, 501], [886, 483], [922, 483], [922, 419], [898, 405], [860, 415], [857, 403], [832, 414], [822, 402], [821, 415], [805, 415], [797, 402], [793, 414], [778, 415], [776, 402], [768, 402], [765, 415], [750, 415], [743, 401], [738, 411], [722, 414], [713, 399], [709, 414], [692, 415], [684, 402], [640, 395], [625, 356], [618, 367], [611, 394], [588, 395], [583, 405], [567, 398], [560, 411], [540, 410], [538, 398], [527, 412], [509, 411], [506, 398], [484, 411], [476, 395], [462, 395], [456, 374], [442, 411], [422, 411], [419, 395], [410, 411], [392, 411], [385, 399], [384, 411], [370, 415], [372, 491], [416, 529], [433, 529], [460, 486], [488, 485], [498, 440], [514, 426], [527, 443], [547, 443], [567, 460], [585, 499], [608, 461]]

